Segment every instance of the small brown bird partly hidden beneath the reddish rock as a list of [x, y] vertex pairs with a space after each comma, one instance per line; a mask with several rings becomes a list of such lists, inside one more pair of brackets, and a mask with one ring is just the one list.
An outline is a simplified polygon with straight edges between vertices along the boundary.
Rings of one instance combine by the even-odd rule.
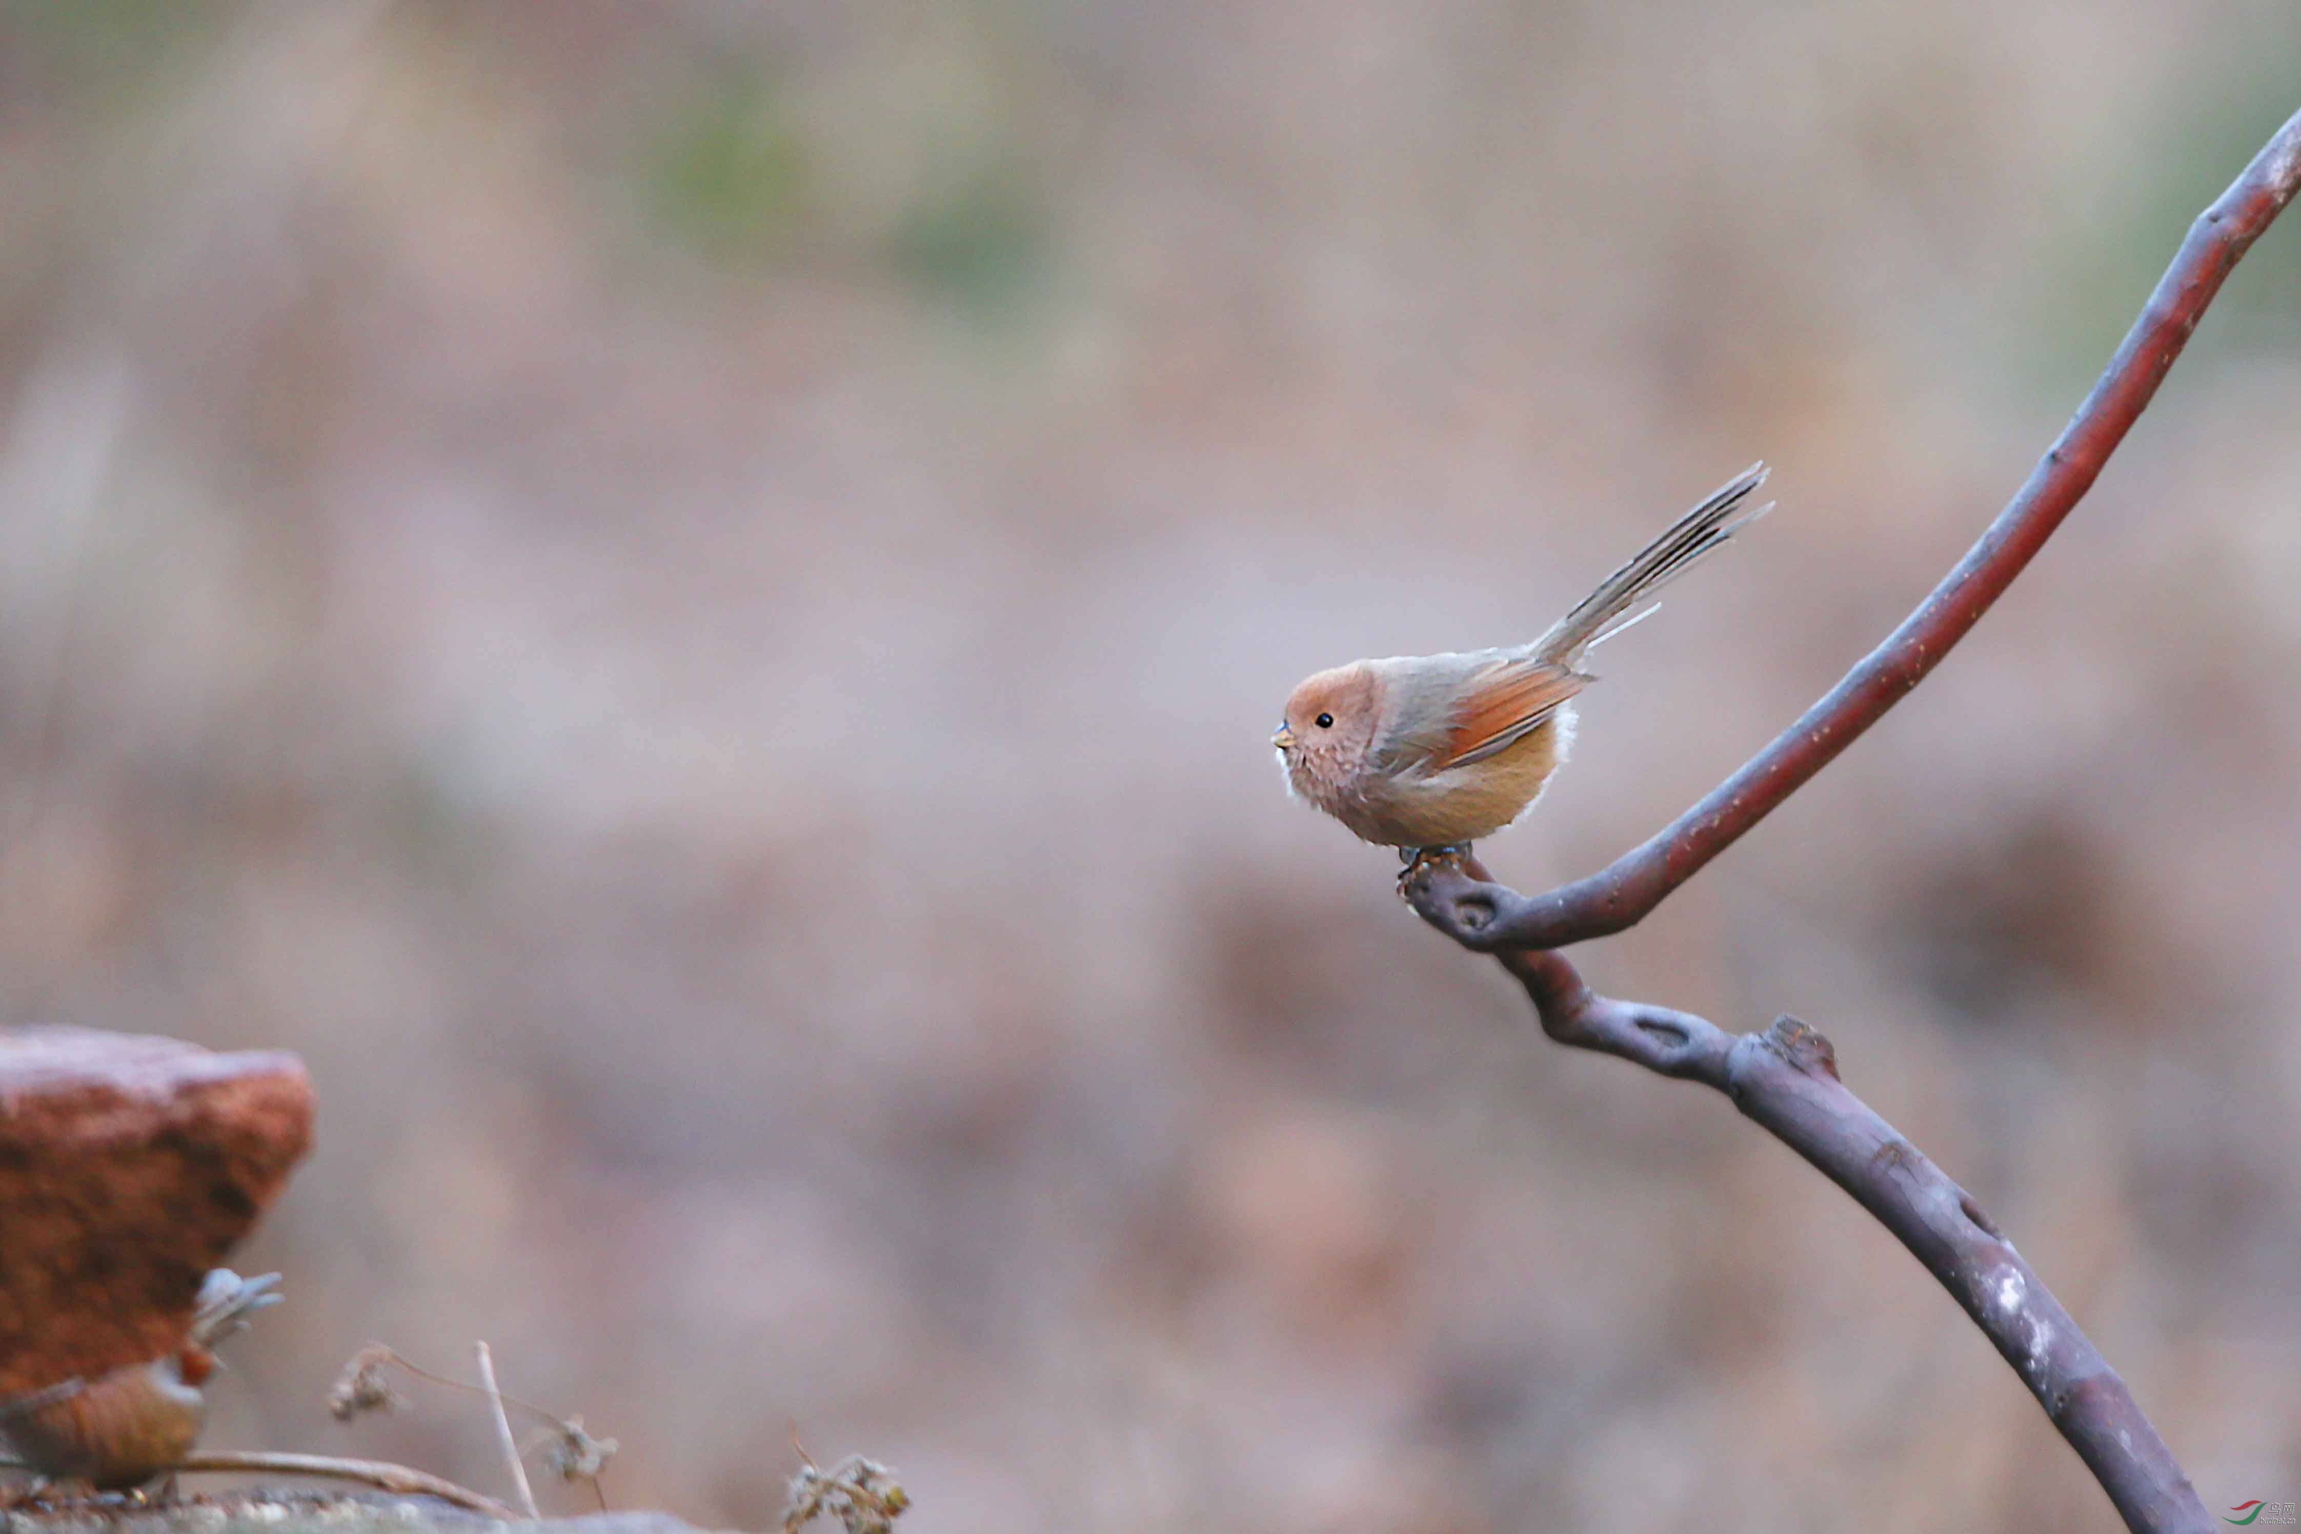
[[0, 1401], [0, 1437], [48, 1481], [129, 1490], [166, 1474], [200, 1442], [207, 1424], [200, 1387], [219, 1368], [214, 1345], [278, 1304], [278, 1274], [242, 1279], [230, 1267], [214, 1270], [175, 1352]]

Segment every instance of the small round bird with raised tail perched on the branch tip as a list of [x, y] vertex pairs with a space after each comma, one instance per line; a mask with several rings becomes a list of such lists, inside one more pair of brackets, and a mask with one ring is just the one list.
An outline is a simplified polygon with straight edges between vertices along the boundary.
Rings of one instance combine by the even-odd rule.
[[1404, 849], [1408, 867], [1509, 826], [1574, 743], [1572, 699], [1592, 681], [1583, 653], [1772, 511], [1744, 508], [1760, 483], [1765, 465], [1719, 485], [1532, 644], [1353, 660], [1305, 678], [1270, 736], [1286, 787], [1360, 839]]

